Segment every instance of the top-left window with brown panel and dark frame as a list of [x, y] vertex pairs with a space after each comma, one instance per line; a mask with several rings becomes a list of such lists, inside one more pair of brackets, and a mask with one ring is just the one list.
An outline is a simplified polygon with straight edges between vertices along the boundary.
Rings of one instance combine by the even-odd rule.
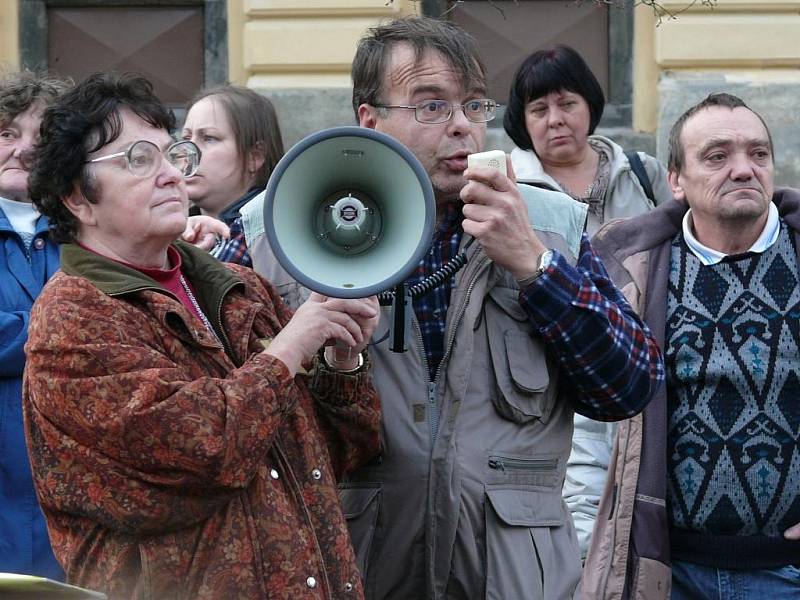
[[96, 71], [138, 72], [173, 108], [227, 78], [224, 3], [26, 0], [21, 7], [27, 67], [75, 81]]

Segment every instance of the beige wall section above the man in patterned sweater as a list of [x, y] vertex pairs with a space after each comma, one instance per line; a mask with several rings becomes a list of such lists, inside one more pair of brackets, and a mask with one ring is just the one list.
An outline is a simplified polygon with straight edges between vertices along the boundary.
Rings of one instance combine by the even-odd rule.
[[[662, 0], [672, 13], [690, 0]], [[800, 83], [800, 1], [698, 0], [657, 23], [638, 6], [634, 22], [633, 125], [655, 132], [664, 76], [715, 73], [730, 82]]]

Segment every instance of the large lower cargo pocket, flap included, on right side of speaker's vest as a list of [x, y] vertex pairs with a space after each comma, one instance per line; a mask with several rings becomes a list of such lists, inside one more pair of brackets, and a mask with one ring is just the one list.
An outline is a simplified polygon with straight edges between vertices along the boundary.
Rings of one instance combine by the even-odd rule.
[[[566, 525], [557, 489], [486, 486], [486, 599], [557, 600], [570, 597], [580, 577], [580, 561], [551, 528]], [[560, 545], [560, 548], [556, 546]], [[566, 564], [565, 564], [566, 563]]]

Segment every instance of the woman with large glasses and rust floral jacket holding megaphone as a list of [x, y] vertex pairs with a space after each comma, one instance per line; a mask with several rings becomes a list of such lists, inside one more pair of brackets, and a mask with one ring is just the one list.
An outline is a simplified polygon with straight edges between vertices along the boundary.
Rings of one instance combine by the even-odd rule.
[[378, 451], [377, 299], [292, 315], [174, 242], [200, 151], [173, 124], [133, 75], [44, 113], [31, 195], [63, 245], [23, 408], [53, 549], [115, 600], [362, 597], [336, 481]]

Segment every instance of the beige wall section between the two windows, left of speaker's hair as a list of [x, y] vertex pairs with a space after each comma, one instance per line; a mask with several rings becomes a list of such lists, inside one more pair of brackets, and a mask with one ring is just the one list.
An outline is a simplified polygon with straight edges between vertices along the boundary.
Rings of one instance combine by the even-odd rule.
[[344, 88], [364, 31], [411, 0], [228, 0], [230, 78], [253, 88]]

